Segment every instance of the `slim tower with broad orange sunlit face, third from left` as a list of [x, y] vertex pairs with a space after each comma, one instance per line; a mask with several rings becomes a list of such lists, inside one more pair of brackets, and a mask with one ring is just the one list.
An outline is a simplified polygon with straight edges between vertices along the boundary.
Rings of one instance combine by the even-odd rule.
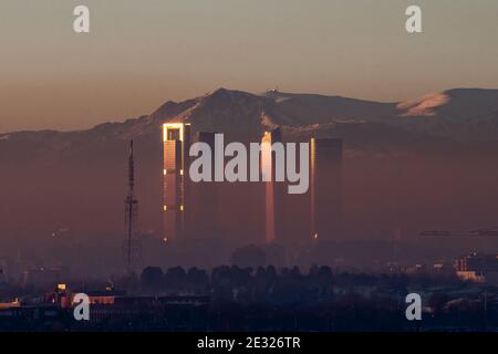
[[[282, 135], [279, 128], [264, 132], [261, 138], [261, 174], [264, 181], [266, 227], [264, 240], [268, 243], [286, 240], [286, 184], [277, 181], [276, 167], [286, 167], [286, 154], [274, 148], [274, 143], [281, 143]], [[283, 148], [283, 145], [281, 145]], [[264, 176], [267, 175], [267, 177]]]

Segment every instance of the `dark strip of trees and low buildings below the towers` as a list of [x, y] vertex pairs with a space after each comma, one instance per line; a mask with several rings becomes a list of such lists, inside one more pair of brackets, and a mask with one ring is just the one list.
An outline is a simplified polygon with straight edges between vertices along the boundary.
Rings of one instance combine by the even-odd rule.
[[[24, 289], [23, 299], [0, 299], [0, 332], [498, 330], [498, 287], [440, 270], [365, 274], [317, 266], [308, 272], [224, 266], [209, 274], [149, 269], [129, 293], [112, 287], [72, 291], [65, 283], [53, 289]], [[89, 321], [73, 315], [81, 292], [89, 296]], [[424, 294], [423, 321], [406, 320], [404, 299], [411, 292]]]

